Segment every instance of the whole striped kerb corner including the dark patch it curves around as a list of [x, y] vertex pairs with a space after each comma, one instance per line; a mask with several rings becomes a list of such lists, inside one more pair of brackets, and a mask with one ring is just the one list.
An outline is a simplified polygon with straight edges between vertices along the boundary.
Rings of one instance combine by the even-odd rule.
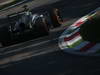
[[70, 25], [59, 37], [64, 52], [80, 55], [100, 55], [100, 8]]

